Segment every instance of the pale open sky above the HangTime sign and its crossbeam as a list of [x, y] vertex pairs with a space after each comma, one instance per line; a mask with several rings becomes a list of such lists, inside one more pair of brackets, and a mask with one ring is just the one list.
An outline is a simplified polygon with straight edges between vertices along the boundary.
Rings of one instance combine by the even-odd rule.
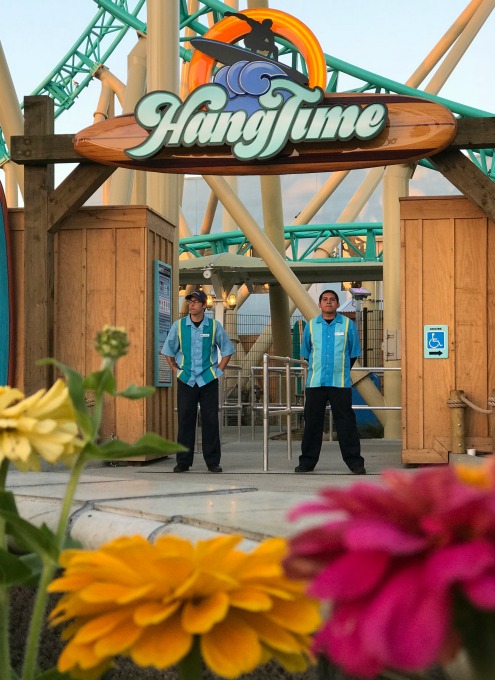
[[[174, 0], [163, 0], [171, 3]], [[129, 7], [135, 5], [129, 0]], [[468, 0], [273, 0], [318, 38], [323, 51], [374, 73], [404, 82], [468, 5]], [[247, 6], [240, 0], [241, 9]], [[94, 0], [0, 0], [0, 42], [21, 100], [52, 71], [84, 31], [98, 6]], [[142, 13], [145, 20], [145, 13]], [[474, 39], [442, 96], [495, 113], [493, 39], [495, 12]], [[129, 31], [107, 66], [123, 81], [135, 42]], [[57, 119], [56, 132], [92, 123], [99, 83]]]

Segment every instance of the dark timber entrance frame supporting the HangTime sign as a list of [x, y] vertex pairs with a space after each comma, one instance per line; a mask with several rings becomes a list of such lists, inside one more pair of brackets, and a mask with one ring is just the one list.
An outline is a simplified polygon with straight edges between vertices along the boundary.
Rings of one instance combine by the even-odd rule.
[[[24, 114], [25, 133], [12, 138], [11, 158], [25, 166], [22, 292], [30, 305], [24, 311], [24, 384], [19, 386], [31, 393], [48, 386], [52, 379], [50, 368], [36, 366], [36, 361], [54, 353], [54, 235], [108, 179], [114, 168], [81, 159], [74, 151], [71, 135], [54, 134], [53, 101], [48, 97], [26, 97]], [[495, 118], [463, 118], [458, 121], [453, 143], [430, 159], [492, 226], [495, 223], [495, 184], [462, 150], [494, 146]], [[77, 167], [54, 188], [54, 164], [74, 162], [78, 163]]]

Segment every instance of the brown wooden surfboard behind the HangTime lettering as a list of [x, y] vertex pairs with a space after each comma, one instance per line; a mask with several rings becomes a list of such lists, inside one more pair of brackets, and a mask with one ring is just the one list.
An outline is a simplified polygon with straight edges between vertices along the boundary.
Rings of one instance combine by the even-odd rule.
[[[76, 151], [99, 163], [136, 170], [211, 175], [287, 174], [352, 170], [392, 165], [426, 158], [444, 149], [455, 136], [456, 122], [450, 111], [433, 102], [393, 95], [332, 95], [333, 106], [356, 101], [387, 107], [383, 130], [374, 139], [305, 141], [287, 140], [276, 156], [243, 161], [228, 143], [191, 146], [170, 145], [166, 140], [152, 156], [132, 158], [127, 152], [141, 147], [150, 137], [134, 115], [118, 116], [92, 125], [74, 138]], [[385, 103], [386, 102], [386, 103]], [[186, 130], [187, 132], [187, 130]]]

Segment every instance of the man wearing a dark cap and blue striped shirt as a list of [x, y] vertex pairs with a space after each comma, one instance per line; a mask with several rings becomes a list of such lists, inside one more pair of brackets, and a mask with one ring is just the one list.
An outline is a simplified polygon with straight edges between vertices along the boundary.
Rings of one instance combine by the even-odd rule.
[[[169, 366], [177, 374], [177, 441], [188, 449], [177, 453], [174, 472], [187, 472], [193, 464], [198, 404], [201, 409], [203, 458], [210, 472], [222, 472], [218, 378], [235, 349], [222, 325], [205, 316], [206, 293], [195, 290], [186, 295], [186, 300], [189, 314], [175, 321], [162, 349]], [[222, 354], [220, 362], [218, 350]]]

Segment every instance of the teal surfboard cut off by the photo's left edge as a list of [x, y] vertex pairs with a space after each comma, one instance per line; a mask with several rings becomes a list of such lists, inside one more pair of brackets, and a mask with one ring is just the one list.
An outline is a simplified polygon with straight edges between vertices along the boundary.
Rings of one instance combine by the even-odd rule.
[[0, 385], [14, 379], [14, 300], [7, 202], [0, 183]]

